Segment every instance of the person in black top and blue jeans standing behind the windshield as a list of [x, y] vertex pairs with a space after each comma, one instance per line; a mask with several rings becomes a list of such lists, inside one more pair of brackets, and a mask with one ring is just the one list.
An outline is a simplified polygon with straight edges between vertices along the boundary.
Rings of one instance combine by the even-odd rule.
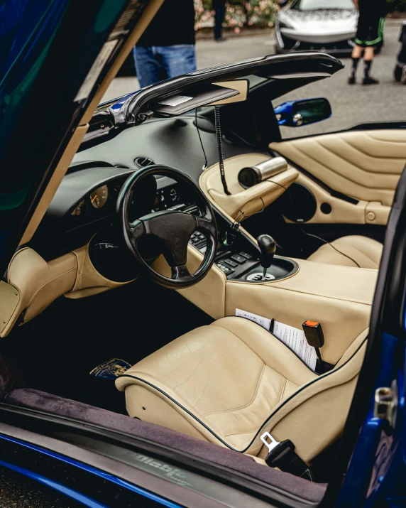
[[193, 0], [165, 0], [133, 56], [141, 88], [196, 70]]

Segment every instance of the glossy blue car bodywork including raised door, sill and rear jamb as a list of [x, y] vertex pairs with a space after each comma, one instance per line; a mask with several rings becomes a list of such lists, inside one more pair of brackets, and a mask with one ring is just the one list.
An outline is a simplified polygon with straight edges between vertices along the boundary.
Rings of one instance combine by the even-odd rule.
[[[138, 11], [134, 9], [134, 23], [146, 3], [139, 2]], [[31, 218], [35, 200], [53, 175], [81, 112], [92, 101], [102, 77], [125, 43], [126, 33], [123, 31], [111, 45], [108, 58], [99, 60], [99, 74], [84, 90], [83, 83], [94, 60], [111, 40], [113, 28], [127, 8], [126, 0], [89, 0], [85, 3], [75, 0], [4, 0], [0, 6], [1, 273], [16, 250]], [[51, 73], [52, 67], [55, 72]], [[121, 98], [111, 109], [119, 111], [132, 97], [134, 94]], [[23, 153], [18, 153], [21, 139], [28, 142]], [[29, 171], [28, 156], [31, 159]], [[322, 502], [324, 506], [400, 507], [406, 503], [406, 264], [401, 265], [402, 256], [406, 254], [402, 250], [406, 231], [405, 183], [403, 175], [388, 226], [375, 296], [371, 323], [374, 340], [369, 346], [368, 362], [361, 372], [351, 406], [351, 428], [346, 428], [336, 465], [337, 477], [342, 481], [331, 486], [329, 497]], [[397, 391], [397, 416], [392, 424], [376, 414], [375, 391], [380, 387], [392, 387]], [[13, 423], [14, 416], [16, 423]], [[38, 484], [48, 485], [88, 507], [138, 506], [136, 503], [177, 507], [182, 504], [162, 494], [165, 492], [160, 485], [164, 481], [162, 477], [144, 472], [155, 479], [155, 482], [148, 483], [133, 469], [134, 480], [131, 482], [124, 478], [122, 470], [114, 472], [113, 463], [107, 464], [105, 455], [100, 455], [97, 462], [96, 448], [74, 458], [73, 438], [65, 441], [63, 451], [53, 449], [58, 440], [64, 442], [65, 423], [55, 418], [46, 424], [44, 421], [46, 429], [41, 437], [41, 426], [36, 423], [30, 430], [29, 418], [23, 413], [14, 415], [10, 411], [0, 411], [0, 465]], [[7, 434], [13, 426], [18, 429], [18, 437]], [[99, 434], [98, 437], [104, 443], [113, 440], [113, 436]], [[97, 440], [97, 436], [94, 439]], [[145, 459], [144, 466], [148, 465], [148, 460], [149, 464], [153, 462], [153, 459]], [[165, 465], [162, 468], [165, 472]], [[167, 468], [171, 469], [171, 466]], [[128, 469], [131, 470], [131, 466]], [[185, 478], [190, 480], [190, 473], [178, 469], [174, 475], [171, 480], [173, 488], [185, 489], [182, 486], [185, 482], [182, 482]], [[213, 481], [206, 478], [205, 485], [199, 488], [208, 492]], [[148, 483], [149, 487], [140, 486], [142, 483]], [[193, 488], [199, 490], [197, 484], [189, 487]], [[185, 498], [185, 504], [190, 505], [190, 499]]]

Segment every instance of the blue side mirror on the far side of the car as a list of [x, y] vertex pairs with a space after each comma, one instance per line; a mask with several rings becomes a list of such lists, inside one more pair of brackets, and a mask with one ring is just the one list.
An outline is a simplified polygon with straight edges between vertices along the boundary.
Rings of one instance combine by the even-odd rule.
[[331, 105], [324, 97], [284, 102], [275, 107], [274, 111], [278, 124], [287, 127], [315, 124], [332, 114]]

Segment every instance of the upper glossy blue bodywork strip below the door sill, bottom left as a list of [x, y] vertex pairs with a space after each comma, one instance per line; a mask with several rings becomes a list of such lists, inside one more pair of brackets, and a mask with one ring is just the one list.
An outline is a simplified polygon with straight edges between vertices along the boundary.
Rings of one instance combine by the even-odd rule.
[[[97, 476], [103, 478], [104, 480], [115, 483], [116, 485], [119, 485], [120, 487], [124, 487], [124, 489], [131, 490], [131, 492], [135, 492], [136, 494], [139, 494], [143, 497], [147, 497], [148, 499], [151, 499], [151, 501], [154, 501], [158, 504], [162, 504], [162, 506], [165, 506], [168, 508], [181, 508], [179, 504], [169, 501], [168, 499], [164, 499], [163, 497], [160, 497], [156, 494], [153, 494], [153, 492], [149, 492], [148, 490], [145, 490], [141, 487], [137, 487], [136, 485], [133, 485], [132, 483], [127, 482], [126, 480], [122, 480], [119, 477], [111, 475], [109, 472], [105, 472], [105, 471], [99, 470], [97, 468], [93, 468], [91, 465], [80, 463], [79, 461], [69, 458], [69, 457], [66, 457], [65, 455], [60, 455], [59, 453], [55, 453], [51, 450], [47, 450], [46, 448], [41, 448], [40, 446], [33, 445], [31, 443], [26, 443], [25, 441], [21, 441], [20, 439], [17, 439], [17, 438], [11, 438], [10, 436], [5, 436], [4, 434], [1, 434], [1, 433], [0, 433], [0, 439], [4, 439], [4, 441], [10, 441], [11, 443], [21, 445], [25, 448], [29, 448], [30, 450], [34, 450], [39, 453], [43, 453], [44, 455], [48, 455], [48, 457], [55, 458], [57, 460], [60, 460], [63, 463], [69, 464], [69, 465], [73, 465], [73, 466], [75, 466], [75, 468], [79, 468], [81, 470], [91, 472], [93, 475], [97, 475]], [[0, 463], [1, 463], [1, 461], [0, 461]], [[13, 466], [13, 468], [16, 468], [16, 467], [17, 466]], [[35, 474], [35, 473], [31, 473], [31, 474]], [[51, 481], [51, 480], [48, 480], [48, 481]], [[60, 484], [55, 483], [55, 485], [60, 485]], [[64, 487], [63, 485], [60, 485], [60, 487], [67, 488], [67, 487]], [[75, 491], [72, 490], [71, 492], [75, 492]], [[70, 494], [68, 494], [68, 495], [70, 495]], [[77, 495], [79, 495], [79, 493], [77, 493]], [[101, 505], [101, 504], [94, 504], [94, 505], [88, 504], [87, 506], [103, 507], [103, 505]]]

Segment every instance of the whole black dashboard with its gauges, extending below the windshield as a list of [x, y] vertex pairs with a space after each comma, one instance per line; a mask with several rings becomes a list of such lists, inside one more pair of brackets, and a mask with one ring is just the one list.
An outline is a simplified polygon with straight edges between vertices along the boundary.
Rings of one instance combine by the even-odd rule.
[[[204, 130], [200, 129], [200, 134], [211, 165], [217, 161], [214, 129], [207, 124]], [[224, 157], [252, 150], [226, 140], [223, 148]], [[135, 129], [126, 129], [114, 139], [79, 151], [35, 232], [31, 247], [46, 260], [72, 252], [114, 224], [121, 186], [134, 171], [154, 163], [167, 164], [198, 183], [203, 161], [194, 117], [188, 116], [175, 120], [153, 119]], [[139, 210], [140, 214], [172, 207], [195, 212], [194, 203], [174, 180], [158, 177], [156, 183], [153, 202]], [[218, 214], [216, 219], [219, 229], [229, 226], [227, 223], [221, 226]], [[114, 229], [119, 231], [119, 228], [116, 225]]]

